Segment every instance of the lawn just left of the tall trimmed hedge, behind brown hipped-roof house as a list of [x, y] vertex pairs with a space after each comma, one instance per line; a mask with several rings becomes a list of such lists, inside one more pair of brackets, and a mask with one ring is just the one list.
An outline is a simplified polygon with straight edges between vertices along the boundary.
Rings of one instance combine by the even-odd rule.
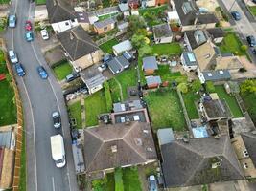
[[107, 110], [104, 90], [85, 98], [86, 127], [98, 125], [98, 116], [105, 112]]

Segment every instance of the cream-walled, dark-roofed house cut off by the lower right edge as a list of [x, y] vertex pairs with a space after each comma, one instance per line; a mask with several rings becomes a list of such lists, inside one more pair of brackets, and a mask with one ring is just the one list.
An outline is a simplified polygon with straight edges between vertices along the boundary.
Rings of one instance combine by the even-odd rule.
[[231, 139], [237, 158], [247, 179], [256, 178], [256, 135], [255, 132], [242, 133]]

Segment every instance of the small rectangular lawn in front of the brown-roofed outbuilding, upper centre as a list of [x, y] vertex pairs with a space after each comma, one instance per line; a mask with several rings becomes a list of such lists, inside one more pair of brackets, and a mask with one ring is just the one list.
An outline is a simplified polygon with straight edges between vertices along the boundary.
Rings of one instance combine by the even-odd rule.
[[167, 44], [154, 44], [152, 47], [152, 54], [158, 55], [180, 55], [182, 49], [176, 42]]

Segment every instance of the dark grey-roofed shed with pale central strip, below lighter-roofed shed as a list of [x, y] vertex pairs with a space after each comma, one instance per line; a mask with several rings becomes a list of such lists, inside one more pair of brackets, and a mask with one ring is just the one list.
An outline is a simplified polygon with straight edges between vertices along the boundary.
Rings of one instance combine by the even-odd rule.
[[113, 74], [119, 74], [125, 69], [128, 69], [130, 63], [128, 60], [123, 56], [117, 56], [107, 62], [107, 66]]

